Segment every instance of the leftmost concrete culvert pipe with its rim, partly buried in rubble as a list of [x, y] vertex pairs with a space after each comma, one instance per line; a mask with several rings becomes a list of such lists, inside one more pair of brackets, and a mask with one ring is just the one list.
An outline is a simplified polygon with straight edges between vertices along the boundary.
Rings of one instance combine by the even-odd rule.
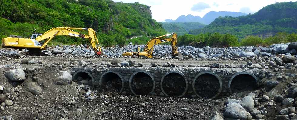
[[[78, 85], [84, 84], [88, 85], [90, 88], [94, 87], [94, 78], [92, 74], [85, 70], [79, 70], [72, 75], [72, 80], [76, 82]], [[92, 89], [91, 88], [91, 89]]]

